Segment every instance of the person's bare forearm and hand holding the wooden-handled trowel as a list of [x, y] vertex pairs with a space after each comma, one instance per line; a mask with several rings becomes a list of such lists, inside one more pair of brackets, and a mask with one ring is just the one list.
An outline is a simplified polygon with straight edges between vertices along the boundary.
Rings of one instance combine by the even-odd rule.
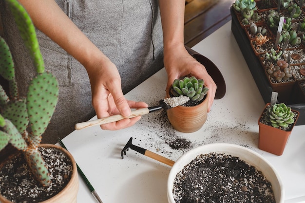
[[[147, 107], [144, 102], [125, 99], [121, 89], [121, 78], [114, 63], [76, 27], [54, 0], [19, 0], [19, 2], [41, 32], [86, 68], [91, 83], [93, 107], [98, 118], [118, 113], [129, 116], [131, 108]], [[102, 125], [101, 128], [123, 129], [132, 126], [139, 119], [140, 117], [123, 119]]]

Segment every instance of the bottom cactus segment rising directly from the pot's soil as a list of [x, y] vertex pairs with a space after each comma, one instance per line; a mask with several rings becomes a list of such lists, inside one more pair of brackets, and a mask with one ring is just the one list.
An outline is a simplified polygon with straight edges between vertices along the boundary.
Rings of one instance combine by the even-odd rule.
[[30, 167], [33, 175], [41, 183], [41, 185], [50, 185], [51, 178], [48, 168], [44, 164], [38, 148], [29, 148], [23, 152], [25, 160]]

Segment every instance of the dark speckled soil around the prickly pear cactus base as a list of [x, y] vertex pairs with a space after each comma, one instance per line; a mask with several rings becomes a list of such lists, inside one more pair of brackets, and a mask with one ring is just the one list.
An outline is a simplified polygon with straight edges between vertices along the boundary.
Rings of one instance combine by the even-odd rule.
[[42, 186], [34, 178], [20, 153], [0, 170], [0, 193], [14, 203], [38, 203], [61, 191], [72, 176], [71, 161], [56, 148], [39, 148], [51, 175], [51, 184]]

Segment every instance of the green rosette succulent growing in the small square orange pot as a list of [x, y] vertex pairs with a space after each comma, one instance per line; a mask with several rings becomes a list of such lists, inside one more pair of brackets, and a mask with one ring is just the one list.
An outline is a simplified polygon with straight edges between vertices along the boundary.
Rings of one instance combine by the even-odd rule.
[[265, 121], [271, 123], [274, 128], [287, 128], [294, 123], [294, 113], [284, 103], [274, 104], [267, 111]]

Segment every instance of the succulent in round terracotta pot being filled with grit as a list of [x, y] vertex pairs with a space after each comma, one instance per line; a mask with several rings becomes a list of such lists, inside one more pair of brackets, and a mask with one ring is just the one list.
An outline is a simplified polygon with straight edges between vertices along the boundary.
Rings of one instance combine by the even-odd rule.
[[166, 97], [187, 95], [190, 101], [183, 106], [167, 110], [172, 126], [181, 132], [194, 132], [200, 129], [207, 120], [208, 88], [202, 79], [194, 76], [175, 79]]

